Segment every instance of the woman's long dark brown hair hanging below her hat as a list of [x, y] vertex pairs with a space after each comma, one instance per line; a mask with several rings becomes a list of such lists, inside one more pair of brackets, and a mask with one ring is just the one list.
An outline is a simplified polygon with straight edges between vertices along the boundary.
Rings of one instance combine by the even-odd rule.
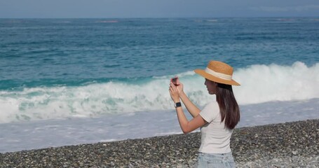
[[240, 111], [231, 85], [217, 83], [216, 99], [222, 122], [225, 120], [226, 127], [232, 130], [240, 120]]

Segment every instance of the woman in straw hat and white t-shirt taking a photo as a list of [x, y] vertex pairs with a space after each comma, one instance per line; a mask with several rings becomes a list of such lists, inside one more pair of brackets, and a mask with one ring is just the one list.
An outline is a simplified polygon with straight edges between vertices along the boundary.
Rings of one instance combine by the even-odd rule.
[[[216, 101], [200, 110], [186, 96], [182, 83], [171, 82], [170, 97], [175, 103], [179, 125], [184, 134], [201, 127], [198, 167], [235, 167], [230, 139], [240, 112], [231, 85], [240, 84], [232, 79], [233, 68], [224, 62], [211, 61], [205, 70], [196, 69], [195, 72], [205, 78], [208, 93], [216, 94]], [[192, 120], [185, 117], [180, 100], [193, 116]]]

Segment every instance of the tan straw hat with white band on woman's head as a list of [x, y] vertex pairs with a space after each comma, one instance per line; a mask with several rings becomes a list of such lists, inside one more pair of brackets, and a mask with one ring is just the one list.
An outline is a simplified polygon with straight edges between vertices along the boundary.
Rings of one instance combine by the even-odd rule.
[[229, 64], [219, 61], [210, 61], [205, 70], [203, 69], [195, 69], [195, 73], [207, 78], [208, 80], [212, 80], [217, 83], [224, 83], [227, 85], [240, 85], [233, 77], [233, 67]]

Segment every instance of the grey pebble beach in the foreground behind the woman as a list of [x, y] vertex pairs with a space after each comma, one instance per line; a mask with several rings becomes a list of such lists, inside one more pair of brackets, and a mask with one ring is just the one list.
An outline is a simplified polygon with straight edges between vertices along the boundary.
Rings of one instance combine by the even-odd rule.
[[[319, 120], [241, 127], [237, 167], [319, 167]], [[0, 153], [0, 167], [195, 167], [200, 132]]]

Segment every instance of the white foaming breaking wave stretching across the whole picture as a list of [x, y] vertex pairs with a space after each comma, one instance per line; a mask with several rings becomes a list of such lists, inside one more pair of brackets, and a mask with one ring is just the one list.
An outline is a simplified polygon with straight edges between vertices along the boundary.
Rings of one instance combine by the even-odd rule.
[[[171, 109], [168, 84], [172, 76], [154, 77], [142, 84], [109, 82], [0, 91], [0, 123]], [[193, 71], [177, 76], [195, 104], [203, 106], [213, 99], [201, 76]], [[292, 66], [252, 65], [237, 69], [234, 79], [241, 84], [233, 87], [240, 105], [319, 97], [319, 63], [310, 67], [302, 62]]]

